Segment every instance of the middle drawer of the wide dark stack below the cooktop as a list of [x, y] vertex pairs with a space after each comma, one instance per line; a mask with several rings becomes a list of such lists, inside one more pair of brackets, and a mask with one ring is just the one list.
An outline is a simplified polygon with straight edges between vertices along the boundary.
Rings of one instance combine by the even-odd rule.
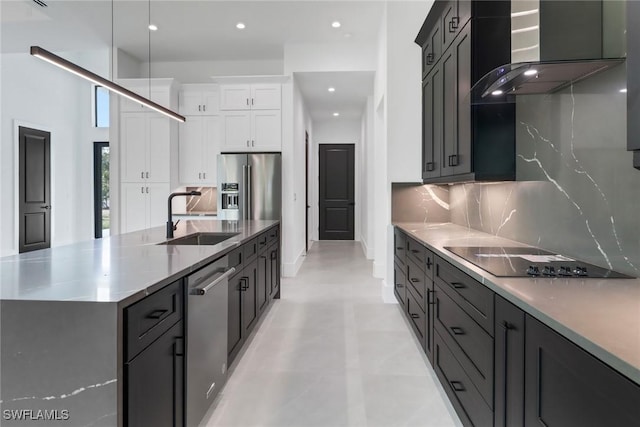
[[436, 285], [435, 328], [493, 408], [493, 338]]

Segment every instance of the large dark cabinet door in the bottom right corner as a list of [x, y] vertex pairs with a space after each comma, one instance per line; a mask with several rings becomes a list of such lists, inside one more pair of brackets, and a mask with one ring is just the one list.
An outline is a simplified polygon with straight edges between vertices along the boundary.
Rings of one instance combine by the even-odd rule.
[[525, 425], [631, 426], [640, 386], [526, 316]]

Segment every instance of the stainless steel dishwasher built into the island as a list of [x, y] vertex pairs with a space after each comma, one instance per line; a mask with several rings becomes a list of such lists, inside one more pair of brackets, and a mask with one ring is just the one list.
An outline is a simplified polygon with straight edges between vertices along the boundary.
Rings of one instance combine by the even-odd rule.
[[227, 379], [228, 281], [220, 258], [187, 277], [186, 425], [197, 426]]

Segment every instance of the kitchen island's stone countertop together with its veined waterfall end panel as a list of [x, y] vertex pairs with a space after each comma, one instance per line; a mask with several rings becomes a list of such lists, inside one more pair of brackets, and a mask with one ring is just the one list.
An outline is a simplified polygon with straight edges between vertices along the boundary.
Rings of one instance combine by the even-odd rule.
[[[0, 258], [2, 425], [123, 425], [124, 310], [279, 221], [184, 221]], [[43, 424], [44, 422], [44, 424]]]

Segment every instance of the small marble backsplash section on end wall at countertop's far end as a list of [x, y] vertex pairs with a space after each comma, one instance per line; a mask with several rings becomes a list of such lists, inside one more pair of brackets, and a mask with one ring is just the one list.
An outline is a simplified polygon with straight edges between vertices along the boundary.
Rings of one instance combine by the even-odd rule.
[[450, 222], [449, 187], [391, 184], [392, 222]]

